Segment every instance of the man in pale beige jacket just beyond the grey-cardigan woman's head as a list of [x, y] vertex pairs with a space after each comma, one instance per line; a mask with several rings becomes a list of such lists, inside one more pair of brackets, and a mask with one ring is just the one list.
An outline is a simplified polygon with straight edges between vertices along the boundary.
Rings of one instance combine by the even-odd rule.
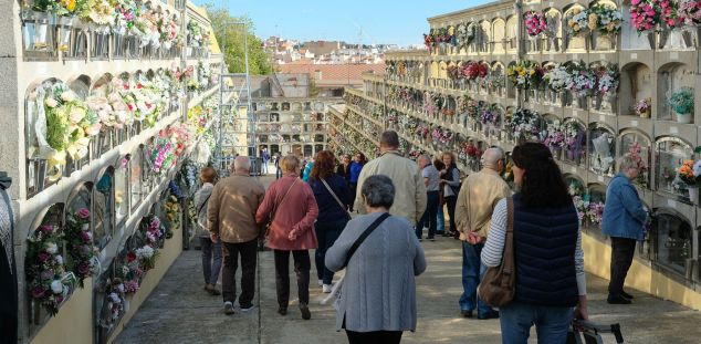
[[[358, 176], [358, 190], [367, 177], [385, 175], [395, 184], [395, 204], [389, 209], [391, 215], [402, 216], [411, 223], [416, 223], [426, 211], [426, 185], [421, 171], [416, 163], [405, 158], [399, 153], [399, 136], [396, 132], [383, 133], [379, 142], [380, 156], [365, 166]], [[363, 195], [358, 192], [354, 208], [365, 213]]]

